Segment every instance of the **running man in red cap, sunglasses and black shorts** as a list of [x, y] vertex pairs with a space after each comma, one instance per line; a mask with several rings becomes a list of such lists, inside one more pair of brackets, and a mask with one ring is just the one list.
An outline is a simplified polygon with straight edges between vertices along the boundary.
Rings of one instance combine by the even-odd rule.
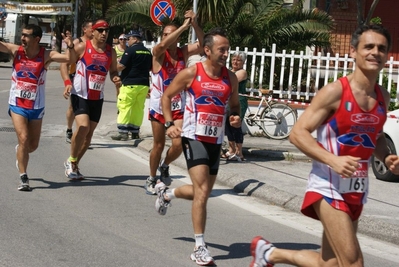
[[64, 90], [64, 97], [71, 97], [76, 122], [76, 131], [71, 140], [71, 154], [64, 163], [65, 175], [71, 180], [84, 179], [78, 164], [90, 146], [94, 130], [100, 121], [108, 71], [111, 80], [120, 84], [116, 52], [106, 43], [108, 23], [97, 20], [92, 29], [93, 39], [78, 43], [75, 47], [79, 60], [76, 63], [73, 86]]

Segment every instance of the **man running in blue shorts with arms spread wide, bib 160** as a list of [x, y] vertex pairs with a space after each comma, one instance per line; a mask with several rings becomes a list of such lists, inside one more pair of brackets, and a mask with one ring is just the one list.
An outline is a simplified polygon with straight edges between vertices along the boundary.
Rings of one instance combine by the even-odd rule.
[[39, 146], [45, 105], [47, 68], [51, 62], [68, 63], [76, 58], [73, 42], [64, 37], [65, 54], [39, 45], [42, 29], [28, 24], [22, 29], [21, 45], [0, 42], [0, 51], [13, 56], [9, 114], [18, 138], [16, 165], [20, 174], [18, 190], [30, 191], [27, 167], [29, 154]]

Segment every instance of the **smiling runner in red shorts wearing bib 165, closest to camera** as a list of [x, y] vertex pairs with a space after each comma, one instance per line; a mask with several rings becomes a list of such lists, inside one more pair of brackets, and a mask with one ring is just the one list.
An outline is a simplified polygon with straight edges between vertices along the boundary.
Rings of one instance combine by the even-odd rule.
[[276, 248], [258, 236], [250, 266], [364, 266], [356, 231], [371, 154], [399, 174], [399, 158], [390, 155], [382, 134], [390, 96], [376, 84], [390, 48], [385, 28], [360, 26], [351, 41], [354, 72], [319, 90], [291, 132], [290, 141], [314, 160], [301, 211], [323, 224], [320, 252]]

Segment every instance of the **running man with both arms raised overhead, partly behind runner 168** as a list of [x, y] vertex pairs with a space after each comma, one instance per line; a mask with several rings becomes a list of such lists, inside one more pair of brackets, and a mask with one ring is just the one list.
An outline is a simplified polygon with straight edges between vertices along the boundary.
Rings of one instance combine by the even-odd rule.
[[[166, 152], [166, 157], [161, 161], [161, 155], [165, 147], [165, 119], [161, 108], [161, 97], [176, 74], [185, 68], [189, 56], [199, 54], [202, 51], [202, 39], [204, 33], [197, 24], [196, 15], [193, 11], [186, 11], [186, 20], [183, 25], [177, 27], [174, 24], [166, 25], [163, 29], [162, 40], [152, 49], [152, 87], [150, 96], [150, 120], [153, 133], [153, 148], [150, 153], [150, 176], [145, 183], [146, 193], [155, 194], [157, 169], [161, 173], [160, 179], [170, 185], [169, 164], [181, 154], [181, 139], [172, 140], [172, 146]], [[198, 43], [177, 47], [180, 35], [190, 25], [194, 28]], [[181, 126], [183, 118], [183, 99], [180, 95], [175, 96], [172, 101], [173, 120], [176, 125]]]

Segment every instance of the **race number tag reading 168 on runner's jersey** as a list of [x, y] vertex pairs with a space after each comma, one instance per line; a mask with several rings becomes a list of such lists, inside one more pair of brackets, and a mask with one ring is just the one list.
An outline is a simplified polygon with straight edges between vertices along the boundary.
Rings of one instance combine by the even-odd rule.
[[195, 134], [208, 137], [219, 137], [223, 130], [223, 115], [198, 113]]

